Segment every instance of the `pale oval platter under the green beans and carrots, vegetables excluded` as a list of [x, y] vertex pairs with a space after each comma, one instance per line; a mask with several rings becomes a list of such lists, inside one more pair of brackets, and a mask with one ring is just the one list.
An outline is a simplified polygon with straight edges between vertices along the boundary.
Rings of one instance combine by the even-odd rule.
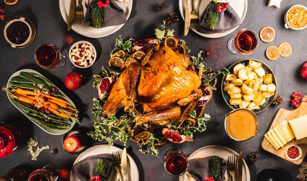
[[[6, 84], [6, 87], [9, 88], [9, 85], [8, 85], [8, 82], [11, 80], [12, 77], [15, 77], [15, 76], [18, 76], [20, 72], [27, 72], [27, 73], [36, 73], [36, 74], [39, 74], [41, 76], [43, 76], [42, 74], [38, 73], [37, 71], [35, 70], [31, 70], [31, 69], [22, 69], [22, 70], [18, 70], [17, 72], [15, 72], [7, 81], [7, 84]], [[45, 76], [43, 76], [45, 77]], [[46, 77], [45, 77], [46, 78]], [[47, 79], [47, 78], [46, 78]], [[47, 79], [48, 80], [48, 79]], [[49, 80], [48, 80], [49, 81]], [[51, 81], [49, 81], [51, 82]], [[54, 85], [52, 82], [51, 82], [52, 85]], [[56, 85], [54, 85], [56, 87]], [[58, 89], [58, 88], [57, 88]], [[61, 92], [63, 95], [65, 95], [62, 90], [58, 89], [59, 92]], [[18, 104], [15, 104], [11, 99], [13, 98], [11, 95], [7, 94], [7, 97], [9, 99], [9, 101], [20, 111], [22, 112], [22, 114], [24, 114], [29, 120], [31, 120], [34, 124], [36, 124], [38, 127], [40, 127], [42, 130], [44, 130], [45, 132], [51, 134], [51, 135], [62, 135], [64, 133], [67, 133], [69, 132], [72, 127], [75, 126], [75, 123], [76, 122], [71, 122], [70, 124], [70, 127], [68, 130], [53, 130], [51, 128], [48, 128], [47, 126], [44, 126], [44, 125], [41, 125], [41, 124], [38, 124], [37, 122], [33, 121], [30, 117], [27, 116], [27, 114], [19, 107]], [[75, 104], [69, 99], [69, 97], [67, 95], [65, 95], [65, 99], [73, 106], [73, 107], [76, 107]]]

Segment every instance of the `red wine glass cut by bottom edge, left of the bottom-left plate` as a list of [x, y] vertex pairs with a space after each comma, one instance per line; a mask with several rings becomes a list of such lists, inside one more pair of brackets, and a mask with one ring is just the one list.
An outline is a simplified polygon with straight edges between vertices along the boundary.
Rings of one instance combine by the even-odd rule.
[[58, 181], [59, 170], [53, 165], [47, 165], [30, 174], [28, 181]]

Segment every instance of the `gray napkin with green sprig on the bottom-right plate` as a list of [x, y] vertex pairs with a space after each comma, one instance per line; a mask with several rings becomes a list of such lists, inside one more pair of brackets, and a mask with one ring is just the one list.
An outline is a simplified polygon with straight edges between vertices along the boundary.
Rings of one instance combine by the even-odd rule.
[[[228, 6], [229, 7], [229, 6]], [[205, 157], [205, 158], [195, 158], [189, 160], [189, 169], [188, 173], [196, 180], [196, 181], [203, 181], [206, 177], [209, 176], [209, 163], [213, 156]], [[220, 157], [218, 157], [220, 158]], [[224, 175], [227, 169], [227, 164], [223, 158], [220, 158], [222, 171], [220, 181], [223, 181]]]

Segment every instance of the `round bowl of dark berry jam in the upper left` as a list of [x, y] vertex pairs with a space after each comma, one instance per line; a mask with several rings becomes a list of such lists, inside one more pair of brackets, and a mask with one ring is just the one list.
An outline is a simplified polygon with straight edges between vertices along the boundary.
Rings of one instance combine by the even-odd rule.
[[14, 48], [22, 48], [30, 45], [35, 37], [33, 23], [25, 17], [10, 19], [4, 26], [4, 38]]

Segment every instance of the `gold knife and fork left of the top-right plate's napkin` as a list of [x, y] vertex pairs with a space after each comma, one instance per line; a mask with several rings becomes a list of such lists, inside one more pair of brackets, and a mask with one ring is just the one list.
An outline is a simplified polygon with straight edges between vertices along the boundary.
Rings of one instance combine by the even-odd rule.
[[[189, 33], [189, 29], [197, 30], [200, 19], [198, 14], [199, 0], [193, 0], [193, 11], [190, 10], [190, 2], [186, 0], [186, 9], [185, 9], [185, 23], [184, 23], [184, 36], [187, 36]], [[191, 13], [191, 14], [190, 14]]]

